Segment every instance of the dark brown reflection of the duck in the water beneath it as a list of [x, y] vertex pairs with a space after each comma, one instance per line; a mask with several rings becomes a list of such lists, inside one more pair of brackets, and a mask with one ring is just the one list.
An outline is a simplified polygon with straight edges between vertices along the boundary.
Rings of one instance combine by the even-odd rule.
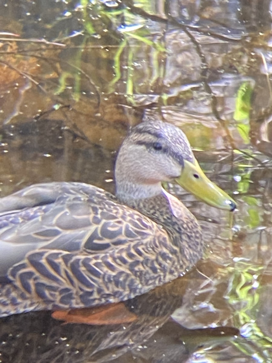
[[[76, 324], [71, 329], [70, 324], [52, 319], [48, 311], [0, 318], [0, 342], [5, 342], [0, 346], [1, 359], [16, 363], [187, 362], [198, 346], [227, 339], [221, 333], [211, 337], [209, 330], [190, 332], [173, 321], [164, 325], [181, 306], [192, 280], [200, 286], [203, 276], [189, 273], [125, 301], [127, 309], [137, 315], [133, 322]], [[237, 330], [231, 334], [237, 334]]]

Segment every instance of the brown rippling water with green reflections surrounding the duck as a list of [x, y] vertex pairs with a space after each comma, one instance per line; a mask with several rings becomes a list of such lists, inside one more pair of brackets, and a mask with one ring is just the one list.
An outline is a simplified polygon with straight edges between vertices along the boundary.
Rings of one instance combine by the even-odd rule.
[[128, 128], [187, 134], [234, 216], [181, 189], [206, 255], [128, 301], [137, 323], [0, 319], [0, 362], [272, 362], [272, 1], [0, 0], [1, 196], [69, 180], [114, 191]]

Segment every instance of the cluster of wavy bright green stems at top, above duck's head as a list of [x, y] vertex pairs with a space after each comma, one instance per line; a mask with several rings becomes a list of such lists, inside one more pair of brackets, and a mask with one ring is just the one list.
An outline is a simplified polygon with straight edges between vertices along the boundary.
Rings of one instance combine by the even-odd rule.
[[[144, 20], [140, 19], [139, 22], [139, 17], [132, 14], [128, 8], [120, 7], [116, 10], [107, 11], [103, 5], [96, 2], [90, 3], [88, 0], [81, 0], [79, 4], [81, 10], [81, 24], [83, 27], [83, 40], [81, 44], [77, 45], [74, 49], [73, 59], [69, 62], [70, 69], [62, 72], [61, 76], [59, 76], [59, 84], [57, 89], [55, 89], [54, 94], [63, 93], [67, 89], [67, 86], [71, 85], [72, 80], [72, 97], [75, 101], [79, 101], [81, 95], [82, 54], [87, 41], [90, 41], [92, 37], [96, 39], [96, 23], [93, 19], [98, 17], [100, 19], [99, 26], [101, 27], [102, 24], [104, 27], [104, 32], [100, 31], [99, 36], [109, 36], [110, 34], [110, 36], [115, 39], [115, 42], [116, 39], [118, 39], [119, 42], [113, 57], [115, 75], [108, 83], [108, 92], [115, 91], [116, 83], [123, 77], [123, 74], [125, 74], [125, 94], [127, 95], [128, 101], [134, 103], [133, 94], [137, 92], [135, 88], [136, 85], [138, 85], [135, 79], [138, 75], [135, 69], [136, 54], [139, 49], [143, 48], [143, 45], [147, 47], [146, 51], [151, 55], [152, 62], [149, 67], [150, 76], [148, 75], [147, 79], [149, 79], [149, 84], [153, 85], [157, 79], [161, 77], [161, 74], [163, 74], [159, 62], [161, 53], [166, 52], [163, 43], [158, 40], [153, 41], [149, 29], [143, 29]], [[95, 17], [92, 16], [92, 13], [95, 14]], [[116, 27], [117, 33], [114, 33], [113, 31], [110, 33], [109, 25], [113, 26], [113, 28]], [[101, 44], [103, 44], [103, 41]], [[148, 47], [150, 49], [148, 49]]]

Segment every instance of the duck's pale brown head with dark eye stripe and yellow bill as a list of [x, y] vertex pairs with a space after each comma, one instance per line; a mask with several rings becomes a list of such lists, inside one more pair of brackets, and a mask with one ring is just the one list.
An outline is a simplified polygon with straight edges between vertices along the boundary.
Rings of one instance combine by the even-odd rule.
[[236, 208], [203, 173], [184, 132], [166, 122], [143, 122], [131, 130], [118, 153], [115, 180], [116, 195], [124, 201], [158, 195], [161, 183], [171, 181], [213, 207]]

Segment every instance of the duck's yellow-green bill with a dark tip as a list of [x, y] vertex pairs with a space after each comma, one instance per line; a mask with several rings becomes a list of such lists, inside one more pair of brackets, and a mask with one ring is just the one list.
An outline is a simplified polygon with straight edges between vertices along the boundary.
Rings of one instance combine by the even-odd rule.
[[198, 199], [213, 207], [228, 211], [234, 211], [236, 208], [235, 201], [207, 178], [196, 159], [193, 163], [184, 160], [184, 168], [176, 182]]

